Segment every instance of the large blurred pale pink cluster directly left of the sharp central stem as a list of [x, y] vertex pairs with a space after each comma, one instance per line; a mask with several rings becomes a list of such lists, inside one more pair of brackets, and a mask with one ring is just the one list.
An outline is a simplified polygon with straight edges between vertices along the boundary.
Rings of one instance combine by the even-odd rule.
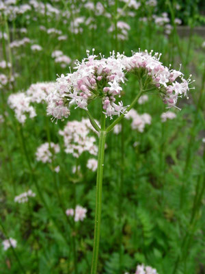
[[64, 130], [59, 131], [59, 134], [64, 137], [66, 153], [71, 153], [75, 158], [79, 158], [84, 151], [97, 155], [96, 138], [90, 136], [90, 129], [92, 129], [92, 125], [89, 119], [68, 121]]

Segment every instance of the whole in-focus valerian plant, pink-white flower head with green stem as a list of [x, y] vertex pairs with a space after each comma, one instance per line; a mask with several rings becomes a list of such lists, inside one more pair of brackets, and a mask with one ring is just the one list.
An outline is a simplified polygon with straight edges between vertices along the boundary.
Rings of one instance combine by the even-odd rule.
[[[102, 176], [104, 166], [105, 139], [115, 125], [126, 116], [139, 100], [141, 95], [157, 92], [167, 108], [176, 107], [178, 97], [187, 97], [191, 89], [191, 75], [184, 79], [180, 71], [167, 68], [159, 61], [161, 54], [133, 52], [131, 57], [115, 51], [109, 58], [100, 54], [100, 58], [87, 51], [87, 58], [76, 62], [76, 71], [61, 75], [57, 78], [55, 89], [47, 97], [47, 113], [53, 116], [52, 121], [68, 118], [70, 108], [81, 108], [87, 112], [90, 122], [98, 132], [98, 169], [96, 178], [96, 211], [94, 226], [94, 248], [91, 274], [97, 273], [98, 251], [100, 242], [100, 221], [102, 206]], [[123, 85], [127, 81], [126, 75], [133, 73], [139, 82], [139, 90], [130, 105], [123, 105], [121, 100]], [[100, 126], [96, 123], [89, 110], [89, 104], [99, 98], [102, 104]], [[188, 97], [187, 97], [188, 98]], [[177, 107], [176, 107], [177, 108]], [[117, 118], [107, 125], [106, 118]]]

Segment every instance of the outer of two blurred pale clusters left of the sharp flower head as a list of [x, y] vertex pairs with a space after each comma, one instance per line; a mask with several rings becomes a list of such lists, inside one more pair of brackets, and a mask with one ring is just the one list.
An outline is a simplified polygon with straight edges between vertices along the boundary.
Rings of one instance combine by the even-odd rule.
[[30, 99], [24, 92], [13, 93], [8, 97], [8, 105], [14, 110], [16, 119], [19, 123], [24, 124], [29, 114], [30, 118], [36, 116], [36, 111], [32, 105], [30, 105]]

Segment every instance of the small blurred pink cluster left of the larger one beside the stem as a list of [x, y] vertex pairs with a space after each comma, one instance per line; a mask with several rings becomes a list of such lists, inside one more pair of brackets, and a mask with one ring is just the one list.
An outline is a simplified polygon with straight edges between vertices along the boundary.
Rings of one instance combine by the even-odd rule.
[[39, 162], [52, 162], [53, 155], [59, 153], [60, 148], [58, 144], [54, 144], [54, 142], [45, 142], [40, 145], [36, 151], [36, 160]]

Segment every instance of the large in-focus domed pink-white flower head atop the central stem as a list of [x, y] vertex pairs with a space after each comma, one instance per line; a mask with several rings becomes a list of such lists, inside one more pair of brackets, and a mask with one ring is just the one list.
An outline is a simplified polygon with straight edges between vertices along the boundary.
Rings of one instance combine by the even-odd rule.
[[[70, 105], [87, 110], [87, 105], [96, 97], [102, 99], [106, 116], [126, 114], [122, 101], [122, 84], [126, 73], [135, 73], [138, 78], [146, 77], [143, 88], [156, 88], [168, 108], [176, 106], [178, 97], [187, 96], [191, 79], [185, 80], [180, 71], [167, 68], [159, 61], [161, 54], [152, 51], [137, 52], [131, 57], [113, 51], [109, 58], [94, 51], [82, 62], [77, 62], [74, 73], [57, 78], [55, 92], [47, 97], [47, 112], [54, 119], [64, 119], [70, 114]], [[140, 75], [140, 76], [139, 76]], [[118, 103], [117, 103], [118, 101]]]

